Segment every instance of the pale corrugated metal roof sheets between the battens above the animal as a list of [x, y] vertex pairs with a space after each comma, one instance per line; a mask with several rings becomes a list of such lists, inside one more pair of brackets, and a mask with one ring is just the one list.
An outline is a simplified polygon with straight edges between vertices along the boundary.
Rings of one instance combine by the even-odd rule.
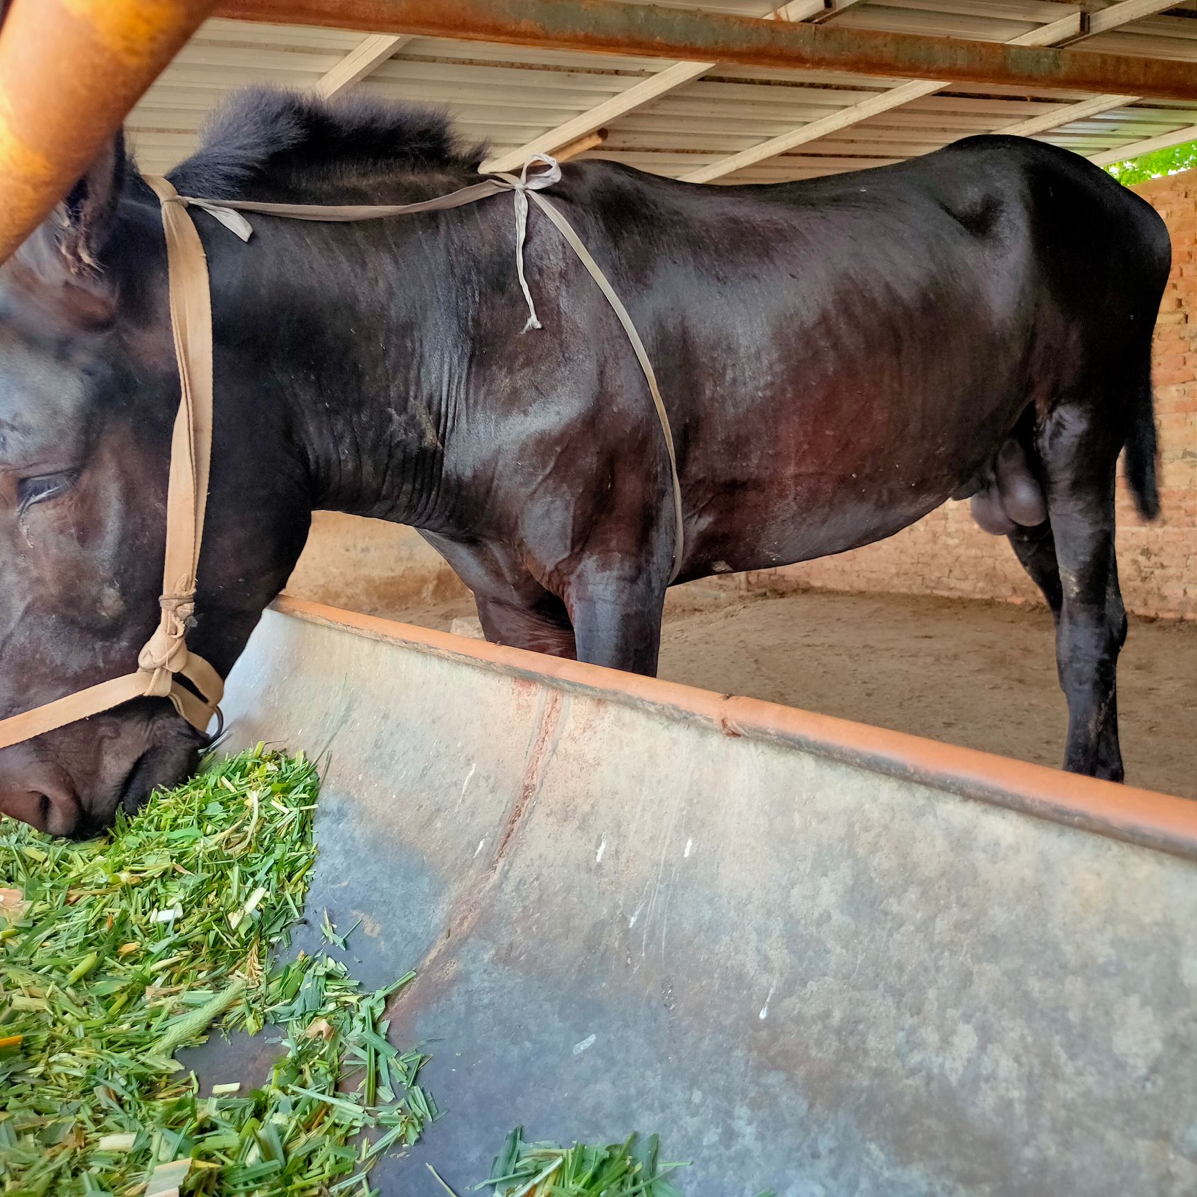
[[[670, 0], [682, 4], [682, 0]], [[686, 7], [694, 7], [685, 0]], [[767, 0], [698, 7], [764, 16]], [[867, 0], [837, 14], [845, 26], [1003, 42], [1080, 10], [1055, 0]], [[1102, 5], [1088, 2], [1089, 10]], [[186, 157], [211, 109], [247, 84], [310, 89], [358, 47], [358, 32], [209, 20], [153, 85], [128, 129], [146, 170]], [[1197, 4], [1098, 34], [1077, 49], [1197, 61]], [[406, 40], [358, 86], [391, 99], [448, 108], [462, 133], [496, 154], [589, 111], [668, 68], [656, 59], [613, 57], [482, 42]], [[701, 78], [607, 124], [590, 157], [663, 175], [685, 175], [847, 109], [907, 80], [814, 71], [716, 65]], [[925, 153], [973, 133], [995, 132], [1093, 97], [952, 84], [935, 95], [851, 123], [725, 176], [734, 182], [802, 178]], [[1040, 136], [1098, 154], [1197, 124], [1197, 103], [1123, 103]]]

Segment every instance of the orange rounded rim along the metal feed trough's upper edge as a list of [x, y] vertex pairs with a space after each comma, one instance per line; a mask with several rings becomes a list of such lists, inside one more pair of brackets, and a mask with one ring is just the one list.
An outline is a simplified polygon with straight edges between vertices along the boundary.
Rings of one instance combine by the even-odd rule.
[[887, 777], [919, 782], [1021, 814], [1065, 824], [1197, 863], [1197, 802], [1009, 757], [924, 740], [831, 715], [682, 686], [658, 678], [527, 652], [450, 632], [360, 615], [281, 595], [274, 609], [371, 639], [451, 656], [488, 669], [597, 691], [615, 701], [651, 703], [679, 718], [699, 718], [724, 735], [794, 745]]

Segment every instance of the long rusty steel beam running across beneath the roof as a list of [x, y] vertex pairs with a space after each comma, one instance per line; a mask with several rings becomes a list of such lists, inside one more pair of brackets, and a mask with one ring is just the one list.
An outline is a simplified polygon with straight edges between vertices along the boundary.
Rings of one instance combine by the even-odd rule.
[[220, 0], [239, 20], [1035, 90], [1197, 99], [1197, 63], [760, 20], [615, 0]]

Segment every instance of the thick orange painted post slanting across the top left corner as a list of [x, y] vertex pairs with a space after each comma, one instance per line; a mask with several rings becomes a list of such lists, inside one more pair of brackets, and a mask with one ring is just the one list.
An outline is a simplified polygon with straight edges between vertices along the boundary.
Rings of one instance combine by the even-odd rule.
[[14, 0], [0, 26], [0, 262], [84, 175], [214, 0]]

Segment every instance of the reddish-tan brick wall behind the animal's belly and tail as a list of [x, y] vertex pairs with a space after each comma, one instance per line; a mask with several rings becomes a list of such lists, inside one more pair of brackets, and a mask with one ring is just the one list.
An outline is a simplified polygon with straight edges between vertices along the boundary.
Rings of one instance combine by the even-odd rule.
[[[1163, 516], [1144, 525], [1119, 481], [1118, 567], [1129, 609], [1197, 619], [1197, 171], [1135, 190], [1172, 233], [1153, 354]], [[1043, 601], [1005, 539], [983, 533], [967, 503], [948, 503], [877, 545], [751, 575], [746, 585]]]

